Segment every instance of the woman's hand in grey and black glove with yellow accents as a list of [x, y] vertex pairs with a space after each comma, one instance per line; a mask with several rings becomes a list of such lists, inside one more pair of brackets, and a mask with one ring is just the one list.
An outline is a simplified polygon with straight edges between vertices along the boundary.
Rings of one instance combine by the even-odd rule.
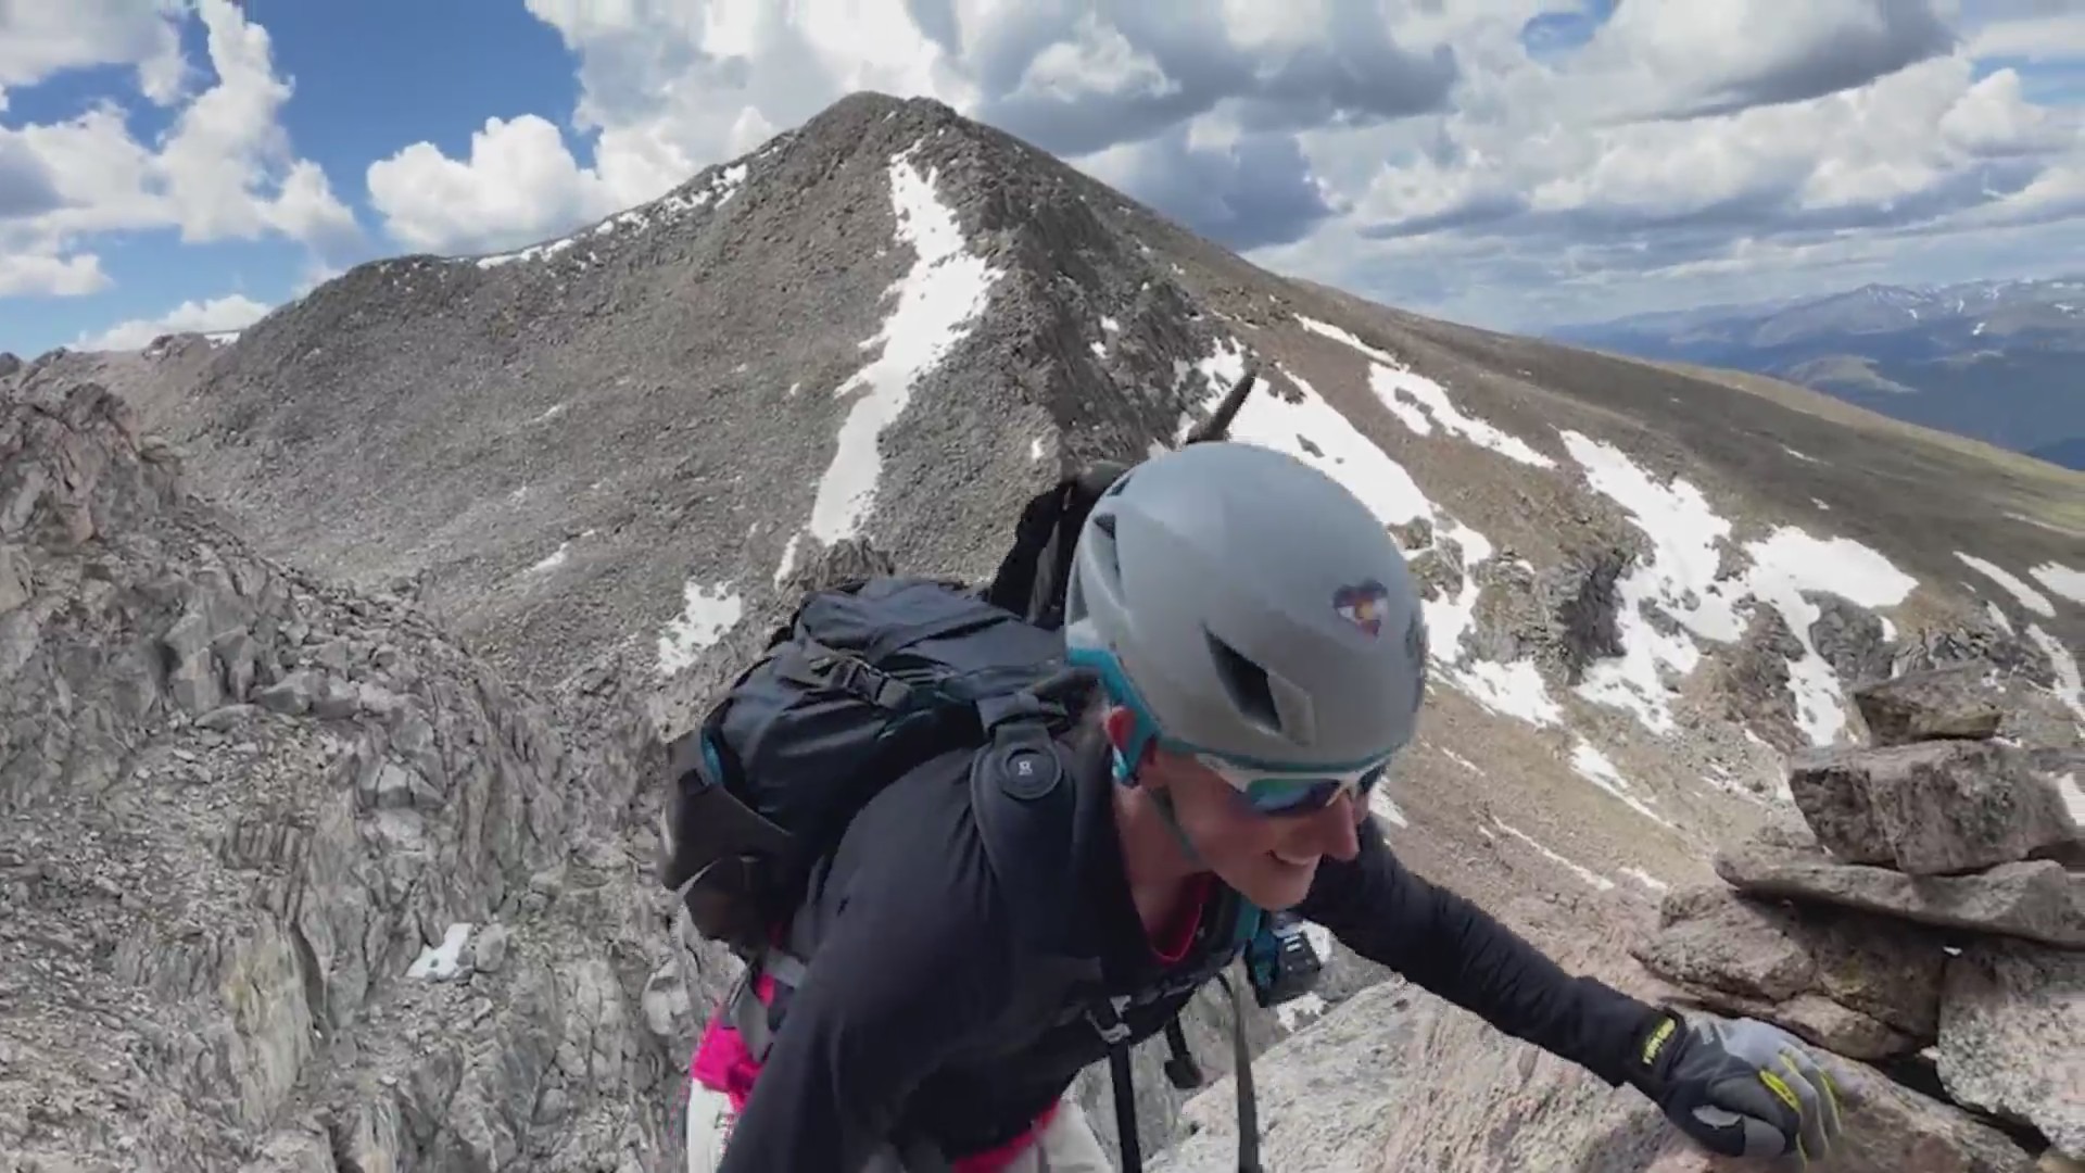
[[1831, 1152], [1839, 1090], [1804, 1044], [1756, 1019], [1662, 1010], [1641, 1037], [1628, 1077], [1695, 1144], [1722, 1156]]

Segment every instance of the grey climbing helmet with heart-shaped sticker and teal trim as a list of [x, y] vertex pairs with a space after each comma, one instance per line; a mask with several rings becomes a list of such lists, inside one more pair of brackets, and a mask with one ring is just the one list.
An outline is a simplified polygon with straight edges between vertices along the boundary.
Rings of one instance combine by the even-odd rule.
[[1382, 520], [1251, 442], [1161, 453], [1109, 486], [1080, 530], [1065, 645], [1138, 718], [1130, 760], [1157, 737], [1241, 791], [1368, 781], [1426, 691], [1426, 620]]

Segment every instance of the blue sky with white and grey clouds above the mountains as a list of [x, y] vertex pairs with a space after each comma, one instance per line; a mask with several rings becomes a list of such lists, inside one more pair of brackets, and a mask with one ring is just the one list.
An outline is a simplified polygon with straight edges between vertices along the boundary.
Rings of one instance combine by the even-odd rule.
[[367, 259], [557, 236], [857, 88], [942, 98], [1270, 267], [1487, 326], [2085, 257], [2085, 10], [2062, 0], [1065, 8], [6, 6], [0, 349], [240, 328]]

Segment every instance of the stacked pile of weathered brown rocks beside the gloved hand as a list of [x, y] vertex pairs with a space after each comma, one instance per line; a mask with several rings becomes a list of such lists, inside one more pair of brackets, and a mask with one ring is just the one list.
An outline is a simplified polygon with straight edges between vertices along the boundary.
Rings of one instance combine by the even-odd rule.
[[[1716, 860], [1635, 948], [1699, 1004], [1891, 1071], [2085, 1156], [2081, 839], [2025, 749], [1989, 741], [1985, 666], [1856, 693], [1879, 747], [1797, 758], [1806, 820]], [[2041, 1142], [2037, 1142], [2041, 1144]]]

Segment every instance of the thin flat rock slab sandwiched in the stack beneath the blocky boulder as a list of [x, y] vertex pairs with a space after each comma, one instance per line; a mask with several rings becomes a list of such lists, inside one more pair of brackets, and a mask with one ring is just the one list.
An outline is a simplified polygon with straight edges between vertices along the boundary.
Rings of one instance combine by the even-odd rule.
[[1943, 929], [2085, 948], [2085, 875], [2056, 860], [2000, 864], [1966, 877], [1908, 877], [1841, 864], [1822, 847], [1756, 837], [1716, 854], [1716, 875], [1741, 891], [1837, 904]]

